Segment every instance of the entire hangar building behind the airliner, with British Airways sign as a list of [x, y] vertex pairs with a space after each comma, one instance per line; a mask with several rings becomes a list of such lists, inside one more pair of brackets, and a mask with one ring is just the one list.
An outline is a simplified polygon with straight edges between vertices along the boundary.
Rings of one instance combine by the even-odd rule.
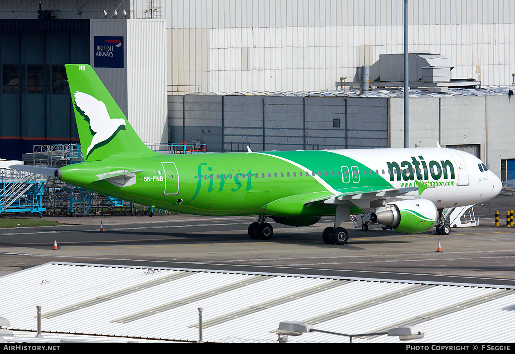
[[[402, 146], [401, 91], [376, 89], [359, 98], [352, 90], [324, 92], [340, 79], [359, 80], [362, 65], [376, 80], [379, 56], [403, 51], [403, 6], [63, 0], [42, 1], [40, 8], [32, 0], [5, 0], [0, 156], [19, 158], [33, 144], [77, 140], [63, 84], [68, 62], [92, 65], [149, 143], [201, 141], [210, 151], [242, 150], [247, 143], [255, 150]], [[451, 79], [483, 87], [412, 92], [409, 145], [439, 141], [472, 149], [499, 175], [501, 169], [510, 174], [513, 87], [506, 85], [515, 73], [515, 3], [414, 0], [408, 21], [410, 51], [448, 57]], [[108, 60], [98, 61], [101, 55]]]

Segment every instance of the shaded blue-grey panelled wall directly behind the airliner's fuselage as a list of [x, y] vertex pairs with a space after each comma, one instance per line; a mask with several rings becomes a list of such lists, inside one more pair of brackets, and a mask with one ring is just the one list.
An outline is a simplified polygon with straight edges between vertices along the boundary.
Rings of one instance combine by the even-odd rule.
[[388, 147], [388, 99], [169, 96], [172, 143], [209, 151]]

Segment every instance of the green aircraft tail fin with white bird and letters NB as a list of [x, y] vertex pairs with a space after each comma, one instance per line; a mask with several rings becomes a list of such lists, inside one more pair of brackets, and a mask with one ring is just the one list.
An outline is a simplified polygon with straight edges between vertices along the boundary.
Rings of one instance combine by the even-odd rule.
[[157, 154], [143, 143], [90, 65], [66, 64], [66, 74], [85, 161]]

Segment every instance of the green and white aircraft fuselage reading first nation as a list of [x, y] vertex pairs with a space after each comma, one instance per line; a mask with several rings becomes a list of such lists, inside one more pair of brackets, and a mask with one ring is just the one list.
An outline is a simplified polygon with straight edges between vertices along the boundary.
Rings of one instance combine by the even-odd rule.
[[[483, 169], [483, 170], [480, 170]], [[443, 148], [238, 152], [113, 157], [62, 168], [62, 180], [113, 197], [186, 214], [267, 215], [269, 203], [298, 196], [274, 216], [334, 215], [334, 205], [303, 202], [324, 193], [419, 187], [437, 208], [487, 201], [501, 182], [475, 156]], [[98, 180], [136, 171], [133, 184]], [[74, 171], [76, 171], [74, 173]], [[363, 210], [352, 208], [351, 214]]]

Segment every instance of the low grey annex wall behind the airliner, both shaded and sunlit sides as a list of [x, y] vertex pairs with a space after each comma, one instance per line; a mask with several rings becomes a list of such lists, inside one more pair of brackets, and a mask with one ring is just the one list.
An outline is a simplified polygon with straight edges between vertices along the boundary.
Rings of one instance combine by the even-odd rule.
[[[209, 151], [403, 146], [402, 98], [173, 95], [168, 101], [170, 141], [202, 141]], [[508, 95], [410, 102], [411, 147], [479, 146], [480, 159], [498, 175], [501, 160], [515, 158]]]

